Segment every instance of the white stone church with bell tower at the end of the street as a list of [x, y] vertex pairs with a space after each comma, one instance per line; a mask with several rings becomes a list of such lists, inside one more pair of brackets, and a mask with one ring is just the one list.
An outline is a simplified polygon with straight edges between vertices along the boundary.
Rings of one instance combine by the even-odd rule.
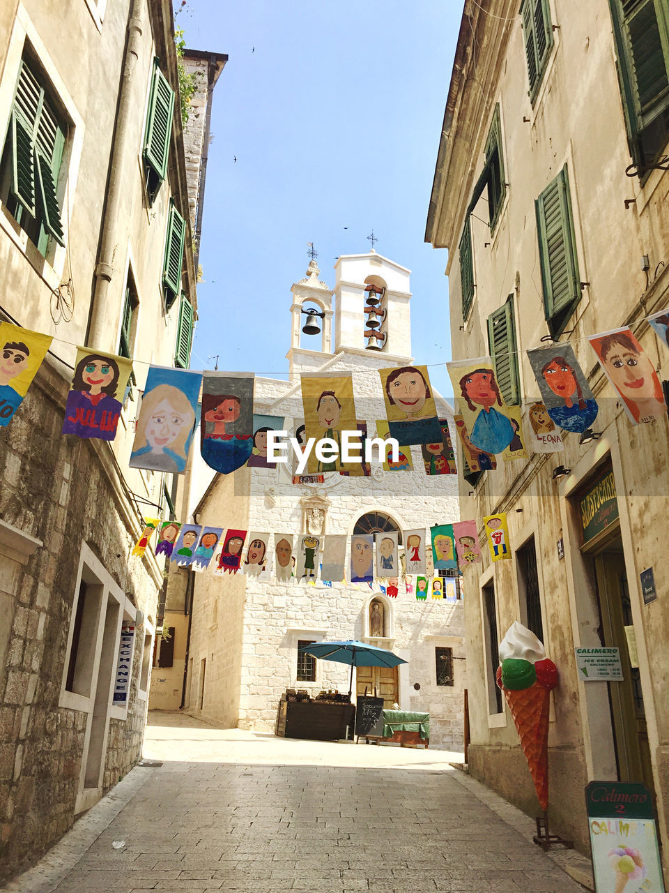
[[[335, 271], [334, 291], [318, 279], [315, 260], [306, 277], [293, 285], [290, 380], [256, 378], [254, 411], [282, 416], [286, 430], [295, 430], [303, 417], [300, 373], [351, 372], [356, 413], [374, 435], [376, 420], [385, 415], [378, 370], [412, 362], [409, 271], [375, 252], [340, 257]], [[366, 328], [365, 296], [371, 286], [384, 295], [378, 310], [383, 317], [380, 330]], [[310, 309], [323, 314], [316, 347], [302, 333]], [[314, 339], [318, 341], [318, 336]], [[381, 350], [376, 349], [378, 345]], [[440, 416], [450, 422], [450, 407], [435, 396]], [[210, 471], [211, 483], [195, 508], [194, 520], [267, 530], [275, 533], [275, 539], [277, 534], [292, 533], [295, 542], [297, 535], [307, 532], [317, 537], [351, 536], [457, 521], [455, 476], [427, 476], [420, 447], [411, 447], [410, 452], [412, 471], [384, 471], [376, 466], [369, 477], [327, 472], [321, 483], [293, 484], [285, 466], [243, 467], [213, 480]], [[459, 591], [458, 580], [446, 578], [443, 585], [444, 591], [448, 587], [453, 593]], [[187, 593], [189, 586], [192, 596]], [[230, 727], [271, 731], [286, 688], [306, 689], [311, 695], [322, 689], [349, 689], [349, 667], [318, 661], [307, 668], [298, 658], [300, 644], [358, 638], [389, 648], [408, 663], [399, 672], [395, 668], [370, 673], [358, 668], [354, 693], [376, 688], [389, 706], [399, 703], [405, 710], [429, 711], [430, 745], [459, 750], [465, 688], [462, 601], [450, 604], [428, 598], [419, 603], [413, 591], [406, 593], [402, 584], [399, 588], [398, 597], [388, 597], [378, 583], [373, 588], [343, 583], [330, 587], [320, 580], [315, 586], [299, 580], [284, 583], [274, 575], [258, 580], [241, 572], [220, 577], [211, 572], [175, 571], [170, 574], [166, 625], [175, 628], [177, 636], [181, 629], [182, 641], [175, 642], [174, 655], [169, 655], [171, 666], [160, 667], [159, 658], [151, 706], [176, 709], [180, 698], [196, 716]], [[383, 616], [377, 628], [371, 620], [375, 605], [376, 613]], [[185, 606], [186, 610], [190, 606], [187, 624]], [[442, 672], [443, 662], [448, 663], [449, 672]]]

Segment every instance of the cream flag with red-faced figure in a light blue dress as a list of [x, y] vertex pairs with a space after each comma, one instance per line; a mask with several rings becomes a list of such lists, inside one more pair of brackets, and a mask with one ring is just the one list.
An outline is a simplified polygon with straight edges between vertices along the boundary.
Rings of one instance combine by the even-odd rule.
[[446, 363], [470, 440], [486, 453], [503, 453], [516, 431], [489, 356]]

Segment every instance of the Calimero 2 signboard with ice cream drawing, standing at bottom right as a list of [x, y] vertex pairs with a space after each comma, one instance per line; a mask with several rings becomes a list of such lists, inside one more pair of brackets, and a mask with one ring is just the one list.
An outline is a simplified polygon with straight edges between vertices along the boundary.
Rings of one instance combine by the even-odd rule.
[[596, 893], [664, 893], [653, 800], [643, 784], [591, 781], [585, 789]]

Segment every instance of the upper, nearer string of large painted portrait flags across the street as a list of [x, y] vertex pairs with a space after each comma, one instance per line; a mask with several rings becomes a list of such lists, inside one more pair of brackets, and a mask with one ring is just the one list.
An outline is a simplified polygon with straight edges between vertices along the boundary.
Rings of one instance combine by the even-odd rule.
[[[648, 317], [657, 338], [669, 348], [669, 308]], [[667, 412], [662, 382], [653, 363], [629, 327], [588, 338], [607, 380], [623, 400], [629, 421], [653, 421]], [[0, 425], [8, 425], [28, 392], [46, 352], [50, 336], [0, 323]], [[507, 405], [489, 356], [446, 363], [456, 398], [455, 425], [467, 472], [493, 470], [503, 461], [527, 458], [529, 452], [554, 453], [564, 448], [562, 432], [582, 434], [599, 413], [585, 375], [568, 342], [527, 351], [541, 399], [528, 406], [531, 432], [523, 430], [522, 407]], [[112, 441], [132, 374], [128, 358], [77, 348], [62, 433]], [[440, 419], [427, 366], [401, 366], [378, 371], [385, 419], [376, 420], [376, 438], [390, 445], [381, 456], [385, 471], [413, 468], [412, 446], [419, 446], [425, 473], [457, 473], [448, 421]], [[129, 464], [133, 468], [183, 474], [200, 425], [204, 461], [227, 474], [246, 465], [272, 468], [270, 432], [284, 430], [282, 416], [253, 413], [252, 372], [212, 372], [150, 365]], [[201, 400], [202, 392], [202, 400]], [[351, 372], [301, 374], [303, 419], [293, 419], [294, 442], [300, 455], [290, 464], [293, 483], [318, 482], [327, 472], [368, 477], [364, 448], [355, 461], [343, 449], [347, 432], [359, 432], [361, 447], [368, 424], [356, 413]], [[314, 443], [327, 438], [334, 455], [319, 455]]]

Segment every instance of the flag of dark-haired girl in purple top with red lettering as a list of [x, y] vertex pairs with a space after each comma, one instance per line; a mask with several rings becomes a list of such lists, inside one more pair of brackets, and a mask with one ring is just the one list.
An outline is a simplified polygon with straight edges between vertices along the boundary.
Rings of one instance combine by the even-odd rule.
[[113, 440], [131, 372], [125, 356], [78, 347], [62, 433]]

